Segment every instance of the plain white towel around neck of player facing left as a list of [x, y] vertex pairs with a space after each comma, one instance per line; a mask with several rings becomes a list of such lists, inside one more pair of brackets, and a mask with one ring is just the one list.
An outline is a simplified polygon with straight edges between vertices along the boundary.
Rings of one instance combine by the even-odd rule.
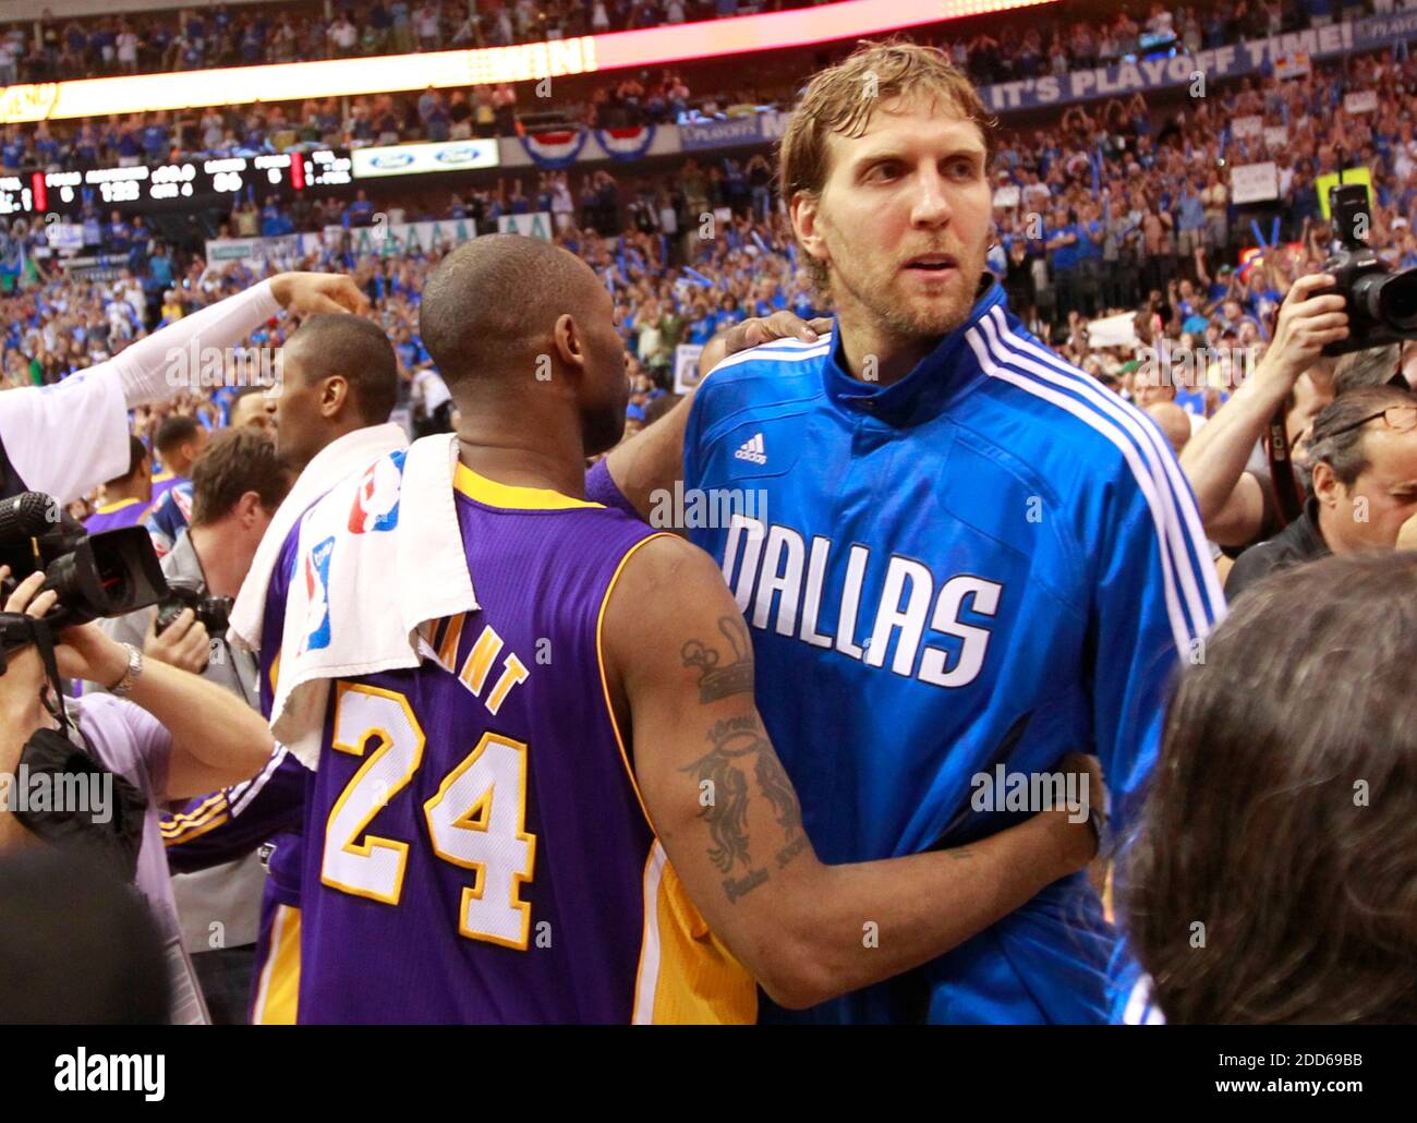
[[261, 649], [261, 627], [265, 617], [265, 597], [281, 560], [281, 547], [310, 503], [324, 495], [346, 476], [354, 475], [398, 448], [408, 448], [408, 434], [402, 425], [388, 423], [346, 432], [322, 448], [300, 472], [290, 493], [276, 508], [271, 526], [261, 536], [256, 556], [251, 562], [237, 603], [231, 605], [230, 632], [248, 651]]

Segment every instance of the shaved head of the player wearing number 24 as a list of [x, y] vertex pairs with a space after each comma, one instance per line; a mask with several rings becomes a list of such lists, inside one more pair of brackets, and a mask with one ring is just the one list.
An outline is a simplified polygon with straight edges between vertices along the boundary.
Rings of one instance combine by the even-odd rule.
[[424, 285], [418, 333], [463, 417], [496, 414], [524, 432], [574, 401], [585, 455], [619, 440], [629, 391], [614, 302], [553, 242], [486, 234], [459, 245]]

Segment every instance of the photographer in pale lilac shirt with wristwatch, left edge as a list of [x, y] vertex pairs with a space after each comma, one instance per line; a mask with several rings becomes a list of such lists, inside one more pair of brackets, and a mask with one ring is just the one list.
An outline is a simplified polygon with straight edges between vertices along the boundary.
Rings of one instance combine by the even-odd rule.
[[[0, 566], [0, 583], [10, 587], [10, 577]], [[92, 621], [95, 605], [61, 604], [45, 583], [43, 570], [28, 573], [0, 611], [0, 852], [72, 848], [135, 882], [163, 936], [171, 1019], [203, 1022], [159, 818], [166, 803], [256, 773], [273, 749], [271, 733], [220, 686], [145, 661], [94, 622], [77, 622]], [[60, 675], [99, 682], [119, 696], [65, 703]], [[82, 805], [58, 798], [75, 793], [86, 793]]]

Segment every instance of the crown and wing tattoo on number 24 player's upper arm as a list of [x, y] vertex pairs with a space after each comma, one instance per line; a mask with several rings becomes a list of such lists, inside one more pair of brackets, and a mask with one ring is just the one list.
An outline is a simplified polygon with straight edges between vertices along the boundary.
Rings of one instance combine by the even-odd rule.
[[[682, 649], [684, 666], [699, 668], [699, 700], [703, 703], [752, 691], [752, 644], [747, 627], [740, 617], [721, 617], [718, 631], [728, 641], [728, 662], [721, 659], [718, 649], [699, 639], [690, 639]], [[754, 869], [750, 854], [750, 767], [758, 794], [772, 805], [786, 838], [774, 855], [779, 869], [806, 848], [806, 834], [796, 791], [757, 717], [714, 722], [707, 737], [713, 747], [682, 771], [691, 773], [699, 783], [703, 804], [699, 817], [708, 825], [711, 841], [708, 859], [724, 875], [723, 889], [733, 902], [768, 879], [765, 868]]]

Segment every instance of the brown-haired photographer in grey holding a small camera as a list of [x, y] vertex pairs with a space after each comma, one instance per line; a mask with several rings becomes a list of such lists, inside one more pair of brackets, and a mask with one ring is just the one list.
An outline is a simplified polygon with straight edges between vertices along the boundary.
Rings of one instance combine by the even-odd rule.
[[[162, 560], [169, 596], [105, 620], [103, 631], [142, 647], [149, 659], [200, 674], [259, 712], [255, 658], [227, 642], [227, 618], [289, 482], [268, 434], [249, 427], [215, 434], [191, 468], [191, 526]], [[181, 817], [176, 822], [190, 825]], [[245, 1021], [264, 885], [254, 852], [173, 879], [183, 940], [217, 1024]]]

